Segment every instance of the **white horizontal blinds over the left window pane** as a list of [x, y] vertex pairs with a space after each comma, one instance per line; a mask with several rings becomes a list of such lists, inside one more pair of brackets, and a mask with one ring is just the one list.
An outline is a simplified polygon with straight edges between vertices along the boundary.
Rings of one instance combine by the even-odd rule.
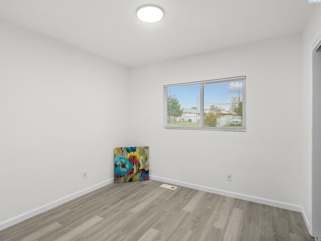
[[200, 84], [167, 87], [167, 127], [200, 127]]

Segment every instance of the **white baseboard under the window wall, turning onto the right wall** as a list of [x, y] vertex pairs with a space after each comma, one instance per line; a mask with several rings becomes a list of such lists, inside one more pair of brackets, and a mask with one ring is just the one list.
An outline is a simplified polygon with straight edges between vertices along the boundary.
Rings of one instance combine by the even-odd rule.
[[179, 186], [193, 188], [193, 189], [197, 189], [197, 190], [201, 190], [201, 191], [205, 191], [205, 192], [210, 192], [210, 193], [215, 193], [215, 194], [219, 194], [219, 195], [223, 195], [223, 196], [234, 197], [234, 198], [238, 198], [238, 199], [242, 199], [242, 200], [246, 200], [246, 201], [251, 201], [251, 202], [265, 204], [265, 205], [269, 205], [269, 206], [273, 206], [273, 207], [280, 207], [280, 208], [284, 208], [284, 209], [288, 209], [288, 210], [292, 210], [292, 211], [296, 211], [296, 212], [301, 212], [303, 219], [305, 221], [305, 224], [306, 223], [308, 224], [308, 219], [302, 209], [302, 206], [299, 206], [296, 204], [280, 202], [280, 201], [276, 201], [276, 200], [271, 200], [271, 199], [257, 197], [257, 196], [251, 196], [251, 195], [237, 193], [237, 192], [225, 191], [225, 190], [221, 190], [221, 189], [196, 185], [196, 184], [192, 184], [192, 183], [188, 183], [188, 182], [182, 182], [182, 181], [177, 181], [177, 180], [163, 178], [163, 177], [157, 177], [157, 176], [153, 176], [153, 175], [149, 175], [149, 178], [151, 180], [155, 180], [155, 181], [166, 182], [166, 183], [173, 184], [173, 185], [179, 185]]

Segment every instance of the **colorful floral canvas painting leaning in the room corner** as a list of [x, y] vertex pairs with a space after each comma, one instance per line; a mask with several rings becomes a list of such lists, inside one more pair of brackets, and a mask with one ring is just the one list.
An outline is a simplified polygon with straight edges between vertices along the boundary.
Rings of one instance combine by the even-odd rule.
[[114, 183], [149, 179], [148, 147], [116, 147]]

